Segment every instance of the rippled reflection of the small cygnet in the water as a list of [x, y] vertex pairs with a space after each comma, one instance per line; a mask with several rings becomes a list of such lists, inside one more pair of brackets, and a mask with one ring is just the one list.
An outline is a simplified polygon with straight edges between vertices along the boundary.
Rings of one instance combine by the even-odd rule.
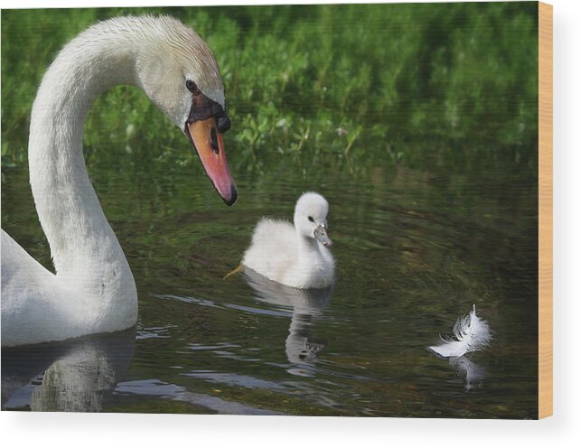
[[286, 358], [295, 367], [287, 371], [293, 375], [313, 376], [312, 367], [324, 348], [323, 341], [314, 339], [313, 323], [329, 303], [333, 285], [324, 289], [296, 289], [273, 282], [248, 267], [244, 268], [243, 277], [256, 292], [257, 300], [292, 311], [285, 350]]

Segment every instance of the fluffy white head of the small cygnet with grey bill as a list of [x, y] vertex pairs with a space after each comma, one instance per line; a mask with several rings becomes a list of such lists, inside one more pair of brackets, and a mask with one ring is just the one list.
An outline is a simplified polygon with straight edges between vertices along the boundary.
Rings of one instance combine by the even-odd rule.
[[332, 247], [333, 241], [327, 236], [329, 203], [319, 193], [306, 192], [295, 206], [295, 229], [305, 238], [315, 238], [324, 247]]

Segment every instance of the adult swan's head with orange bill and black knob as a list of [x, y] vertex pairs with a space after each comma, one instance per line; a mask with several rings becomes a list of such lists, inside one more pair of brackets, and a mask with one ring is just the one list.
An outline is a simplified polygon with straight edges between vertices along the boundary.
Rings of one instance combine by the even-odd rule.
[[145, 94], [194, 145], [208, 177], [228, 205], [238, 198], [222, 134], [230, 129], [224, 85], [210, 48], [171, 17], [145, 17], [138, 35], [136, 76]]

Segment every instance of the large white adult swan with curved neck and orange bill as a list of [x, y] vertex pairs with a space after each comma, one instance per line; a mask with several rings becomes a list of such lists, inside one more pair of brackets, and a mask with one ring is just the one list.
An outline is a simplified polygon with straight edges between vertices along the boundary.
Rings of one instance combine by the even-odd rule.
[[139, 87], [195, 146], [223, 201], [237, 199], [221, 134], [230, 128], [208, 46], [170, 17], [117, 17], [68, 43], [34, 100], [28, 159], [56, 275], [2, 231], [2, 345], [123, 330], [137, 319], [136, 284], [89, 181], [82, 128], [98, 95]]

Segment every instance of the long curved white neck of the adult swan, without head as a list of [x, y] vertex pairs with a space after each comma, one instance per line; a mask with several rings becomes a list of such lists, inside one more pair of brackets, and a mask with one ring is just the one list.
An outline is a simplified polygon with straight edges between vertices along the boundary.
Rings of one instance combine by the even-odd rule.
[[130, 33], [126, 39], [94, 29], [80, 34], [47, 70], [33, 104], [28, 152], [36, 210], [57, 277], [88, 295], [136, 294], [82, 154], [83, 125], [94, 99], [117, 84], [137, 84], [135, 47]]

